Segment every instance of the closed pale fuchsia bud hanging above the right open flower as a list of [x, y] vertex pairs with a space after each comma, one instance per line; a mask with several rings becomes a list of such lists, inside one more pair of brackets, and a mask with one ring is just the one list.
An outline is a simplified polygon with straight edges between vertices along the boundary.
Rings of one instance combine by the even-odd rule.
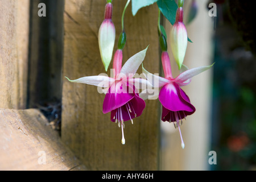
[[187, 44], [188, 44], [187, 30], [183, 23], [182, 7], [178, 7], [177, 9], [176, 22], [172, 27], [170, 40], [171, 40], [171, 49], [174, 55], [174, 59], [180, 69], [184, 61], [185, 53], [187, 50]]

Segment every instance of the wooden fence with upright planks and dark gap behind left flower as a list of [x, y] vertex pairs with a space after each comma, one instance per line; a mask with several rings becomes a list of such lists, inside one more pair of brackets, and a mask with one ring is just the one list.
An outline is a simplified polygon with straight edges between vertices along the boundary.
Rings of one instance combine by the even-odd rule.
[[[39, 3], [46, 17], [38, 16]], [[159, 102], [121, 129], [102, 113], [104, 94], [64, 80], [105, 73], [98, 29], [106, 1], [0, 0], [0, 169], [159, 169]], [[113, 1], [117, 38], [125, 1]], [[146, 48], [144, 64], [159, 72], [158, 9], [125, 16], [123, 60]], [[117, 44], [115, 44], [117, 45]], [[115, 46], [114, 49], [117, 49]], [[141, 71], [141, 69], [139, 69]], [[109, 74], [109, 72], [108, 72]], [[61, 104], [61, 137], [42, 108]], [[36, 109], [31, 109], [36, 108]]]

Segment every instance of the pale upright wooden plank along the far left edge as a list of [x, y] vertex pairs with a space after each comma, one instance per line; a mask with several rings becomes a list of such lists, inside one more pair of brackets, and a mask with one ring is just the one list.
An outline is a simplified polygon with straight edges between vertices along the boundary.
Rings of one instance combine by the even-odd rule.
[[29, 2], [0, 0], [0, 107], [26, 107]]

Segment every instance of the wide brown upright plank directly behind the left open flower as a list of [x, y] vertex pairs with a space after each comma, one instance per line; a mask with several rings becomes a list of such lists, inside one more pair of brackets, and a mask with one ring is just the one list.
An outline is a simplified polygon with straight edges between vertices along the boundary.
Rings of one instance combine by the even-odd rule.
[[[65, 1], [64, 76], [71, 79], [105, 73], [98, 48], [98, 30], [104, 18], [106, 1]], [[126, 1], [113, 1], [113, 22], [121, 33], [121, 15]], [[123, 62], [148, 45], [144, 65], [159, 73], [158, 9], [156, 5], [139, 10], [134, 17], [131, 6], [125, 15], [127, 44]], [[114, 51], [117, 49], [115, 44]], [[141, 73], [141, 68], [138, 73]], [[109, 72], [108, 72], [108, 75]], [[159, 154], [159, 102], [146, 101], [134, 125], [126, 123], [126, 144], [121, 129], [102, 114], [105, 95], [97, 88], [64, 81], [61, 138], [91, 170], [156, 170]]]

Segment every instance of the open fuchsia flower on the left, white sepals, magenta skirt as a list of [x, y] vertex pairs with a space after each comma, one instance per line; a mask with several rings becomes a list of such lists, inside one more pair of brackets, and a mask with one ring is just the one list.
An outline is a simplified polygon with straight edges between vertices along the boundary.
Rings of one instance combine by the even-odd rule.
[[118, 49], [114, 55], [113, 77], [99, 75], [77, 80], [69, 80], [66, 77], [71, 82], [104, 88], [106, 96], [102, 111], [104, 114], [111, 112], [111, 121], [118, 122], [118, 126], [122, 128], [122, 144], [125, 144], [124, 122], [130, 120], [133, 123], [133, 118], [139, 117], [145, 107], [144, 100], [139, 97], [138, 89], [151, 85], [146, 79], [133, 78], [146, 56], [146, 51], [147, 48], [130, 57], [122, 67], [122, 50]]

